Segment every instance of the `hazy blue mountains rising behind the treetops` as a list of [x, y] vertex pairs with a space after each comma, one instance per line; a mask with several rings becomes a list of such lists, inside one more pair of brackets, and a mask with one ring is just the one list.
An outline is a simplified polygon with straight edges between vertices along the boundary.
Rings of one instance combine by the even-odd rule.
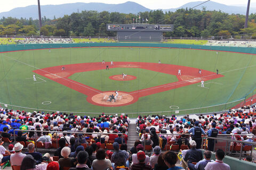
[[[196, 2], [190, 2], [185, 5], [182, 5], [178, 8], [169, 8], [169, 9], [161, 9], [163, 12], [175, 12], [179, 8], [191, 8], [198, 4], [203, 3], [203, 1], [196, 1]], [[226, 12], [229, 14], [235, 13], [235, 14], [245, 14], [246, 13], [246, 6], [229, 6], [225, 4], [220, 4], [216, 2], [207, 2], [205, 4], [199, 5], [195, 7], [198, 10], [202, 10], [202, 7], [205, 7], [206, 10], [209, 11], [219, 11]], [[137, 14], [139, 12], [146, 12], [150, 11], [149, 8], [146, 8], [138, 3], [135, 2], [126, 2], [122, 4], [105, 4], [105, 3], [69, 3], [69, 4], [61, 4], [61, 5], [41, 5], [41, 13], [42, 16], [46, 16], [46, 18], [53, 19], [62, 17], [64, 15], [70, 15], [73, 12], [81, 12], [81, 11], [89, 11], [94, 10], [98, 12], [102, 11], [108, 11], [108, 12], [119, 12], [119, 13], [133, 13]], [[250, 13], [255, 13], [256, 7], [250, 8]], [[12, 10], [8, 12], [2, 12], [0, 13], [0, 18], [2, 17], [8, 17], [11, 16], [13, 18], [33, 18], [38, 19], [38, 8], [37, 5], [30, 5], [26, 7], [17, 7], [13, 8]]]

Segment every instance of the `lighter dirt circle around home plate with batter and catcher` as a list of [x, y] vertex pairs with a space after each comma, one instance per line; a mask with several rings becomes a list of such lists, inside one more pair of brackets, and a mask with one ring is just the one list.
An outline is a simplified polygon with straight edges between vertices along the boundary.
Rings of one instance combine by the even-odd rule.
[[130, 105], [135, 102], [132, 95], [129, 95], [126, 92], [121, 91], [118, 91], [118, 97], [116, 98], [116, 102], [115, 100], [109, 101], [109, 96], [112, 94], [115, 96], [115, 91], [106, 91], [102, 92], [101, 94], [92, 96], [91, 99], [94, 103], [98, 105], [110, 107]]

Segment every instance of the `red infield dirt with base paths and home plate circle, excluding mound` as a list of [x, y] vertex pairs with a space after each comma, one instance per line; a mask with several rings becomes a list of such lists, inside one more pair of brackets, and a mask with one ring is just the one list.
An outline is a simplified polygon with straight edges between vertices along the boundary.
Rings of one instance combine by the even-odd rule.
[[[109, 101], [107, 101], [105, 96], [108, 96], [109, 91], [104, 92], [104, 91], [95, 89], [93, 87], [86, 86], [85, 84], [79, 83], [77, 81], [68, 79], [70, 75], [77, 72], [105, 70], [106, 65], [110, 65], [110, 62], [106, 62], [106, 64], [102, 64], [101, 62], [69, 64], [69, 65], [64, 65], [65, 71], [61, 71], [61, 67], [63, 65], [53, 66], [53, 67], [47, 67], [44, 69], [34, 70], [33, 72], [39, 75], [42, 75], [45, 78], [51, 79], [55, 82], [63, 84], [64, 86], [67, 86], [73, 90], [81, 92], [82, 94], [87, 96], [87, 101], [93, 105], [106, 106], [106, 107], [130, 105], [138, 101], [140, 97], [145, 97], [145, 96], [157, 94], [159, 92], [164, 92], [164, 91], [168, 91], [168, 90], [172, 90], [172, 89], [176, 89], [184, 86], [189, 86], [191, 84], [199, 83], [202, 80], [208, 81], [208, 80], [223, 77], [223, 75], [221, 74], [217, 75], [216, 73], [210, 72], [207, 70], [202, 70], [202, 74], [199, 74], [197, 68], [180, 66], [180, 65], [158, 64], [158, 63], [138, 63], [138, 62], [114, 62], [114, 66], [110, 66], [110, 69], [115, 67], [134, 67], [134, 68], [139, 67], [140, 69], [146, 69], [150, 71], [176, 75], [179, 80], [177, 82], [162, 84], [160, 86], [150, 87], [146, 89], [140, 89], [140, 90], [130, 91], [130, 92], [125, 92], [125, 91], [119, 92], [119, 97], [122, 96], [122, 98], [120, 101], [117, 100], [118, 102], [116, 103], [110, 103]], [[179, 69], [181, 70], [181, 75], [178, 75]], [[113, 93], [113, 95], [115, 96], [114, 91], [110, 91], [110, 93]], [[123, 97], [126, 97], [124, 101], [122, 101]]]

